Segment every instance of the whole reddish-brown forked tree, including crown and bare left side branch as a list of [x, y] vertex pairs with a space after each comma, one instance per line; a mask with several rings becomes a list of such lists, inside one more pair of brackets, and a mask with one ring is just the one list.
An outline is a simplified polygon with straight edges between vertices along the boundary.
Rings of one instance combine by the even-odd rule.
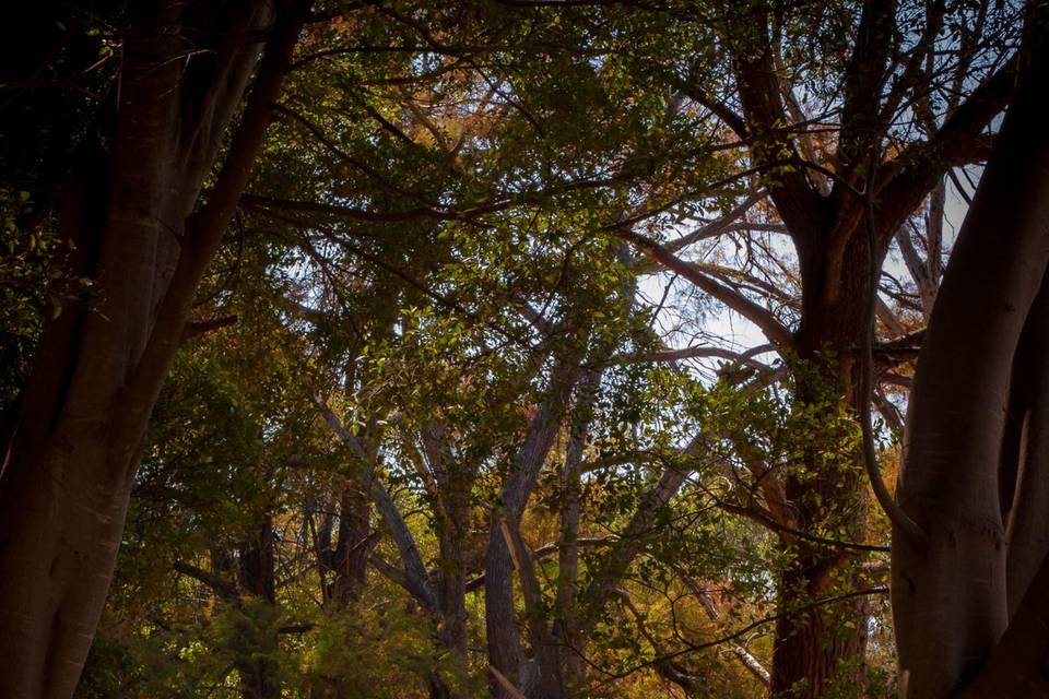
[[[877, 370], [861, 348], [872, 342], [868, 335], [874, 332], [889, 245], [951, 168], [986, 157], [983, 131], [1012, 94], [1010, 49], [981, 35], [1002, 19], [987, 5], [970, 17], [968, 8], [948, 3], [867, 2], [853, 13], [845, 7], [757, 2], [707, 12], [703, 16], [718, 27], [715, 40], [730, 55], [730, 64], [705, 71], [699, 63], [680, 90], [735, 134], [746, 147], [747, 171], [758, 173], [767, 187], [797, 258], [792, 272], [801, 297], [790, 309], [794, 322], [768, 308], [789, 298], [788, 289], [769, 288], [753, 275], [727, 282], [723, 269], [705, 269], [675, 254], [718, 235], [732, 217], [667, 246], [629, 228], [621, 235], [751, 320], [781, 355], [800, 359], [791, 362], [794, 410], [815, 411], [828, 422], [844, 410], [860, 423], [869, 401], [863, 372]], [[944, 39], [948, 27], [954, 34]], [[944, 42], [956, 50], [951, 64], [935, 57]], [[983, 72], [979, 81], [976, 70]], [[833, 78], [824, 82], [828, 74]], [[938, 83], [969, 94], [938, 102]], [[911, 104], [919, 129], [905, 125]], [[934, 288], [934, 280], [926, 286]], [[755, 291], [767, 299], [764, 304], [754, 303]], [[880, 317], [892, 320], [884, 312]], [[828, 394], [841, 398], [827, 401]], [[825, 447], [813, 442], [804, 457], [808, 469], [792, 473], [766, 466], [766, 494], [778, 494], [789, 505], [774, 516], [781, 533], [836, 532], [860, 541], [863, 467], [870, 461], [860, 445], [857, 439], [839, 458], [827, 458]], [[873, 478], [879, 502], [892, 511], [876, 469]], [[846, 549], [783, 538], [793, 562], [778, 583], [783, 616], [777, 623], [773, 692], [818, 697], [835, 683], [862, 676], [867, 602], [790, 611], [854, 588], [860, 566]], [[848, 615], [848, 627], [838, 623], [840, 615]]]

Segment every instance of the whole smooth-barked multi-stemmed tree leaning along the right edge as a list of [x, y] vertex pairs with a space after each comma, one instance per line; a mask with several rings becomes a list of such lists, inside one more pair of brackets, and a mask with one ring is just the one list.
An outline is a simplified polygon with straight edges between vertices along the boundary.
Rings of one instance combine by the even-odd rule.
[[[907, 697], [1042, 695], [1046, 517], [1047, 14], [958, 234], [908, 415], [893, 615]], [[973, 328], [980, 328], [973, 333]], [[964, 380], [959, 380], [964, 377]]]

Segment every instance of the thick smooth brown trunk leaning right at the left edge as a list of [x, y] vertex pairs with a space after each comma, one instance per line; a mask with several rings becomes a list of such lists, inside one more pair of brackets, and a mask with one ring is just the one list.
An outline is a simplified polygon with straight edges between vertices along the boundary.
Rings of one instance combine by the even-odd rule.
[[[267, 2], [137, 5], [110, 154], [87, 163], [63, 232], [91, 303], [46, 323], [0, 473], [0, 695], [67, 699], [94, 637], [146, 423], [193, 292], [232, 216], [298, 35], [278, 25], [208, 204], [187, 226], [270, 24]], [[200, 10], [200, 12], [197, 12]], [[184, 21], [214, 46], [184, 60]], [[195, 25], [196, 26], [196, 25]], [[220, 32], [215, 32], [220, 29]], [[105, 191], [99, 189], [99, 182]]]

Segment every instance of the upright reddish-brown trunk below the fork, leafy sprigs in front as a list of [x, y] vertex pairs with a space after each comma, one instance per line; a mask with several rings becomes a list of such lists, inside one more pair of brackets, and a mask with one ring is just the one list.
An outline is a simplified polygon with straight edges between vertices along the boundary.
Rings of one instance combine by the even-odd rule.
[[[851, 225], [848, 234], [842, 226]], [[798, 410], [817, 411], [826, 425], [840, 419], [841, 402], [856, 411], [859, 401], [858, 350], [870, 318], [871, 275], [880, 269], [883, 249], [870, 250], [859, 222], [804, 238], [799, 245], [803, 279], [802, 321], [795, 350], [802, 364], [795, 372]], [[877, 245], [875, 242], [875, 245]], [[876, 261], [872, 265], [872, 261]], [[816, 420], [818, 422], [818, 420]], [[821, 443], [813, 434], [805, 473], [788, 474], [785, 491], [792, 529], [832, 538], [860, 541], [865, 511], [865, 482], [859, 447], [835, 453], [832, 437]], [[773, 651], [773, 696], [816, 698], [835, 684], [859, 686], [864, 675], [869, 603], [850, 599], [794, 613], [813, 602], [856, 589], [856, 562], [834, 546], [785, 537], [790, 562], [779, 580]]]

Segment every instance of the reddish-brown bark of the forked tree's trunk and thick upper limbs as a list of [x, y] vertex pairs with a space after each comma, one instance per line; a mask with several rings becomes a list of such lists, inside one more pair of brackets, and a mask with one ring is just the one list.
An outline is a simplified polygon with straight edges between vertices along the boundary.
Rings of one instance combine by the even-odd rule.
[[[858, 406], [870, 400], [859, 394], [860, 350], [870, 342], [867, 323], [888, 241], [947, 168], [985, 153], [979, 135], [1010, 97], [1015, 63], [979, 85], [942, 127], [931, 129], [934, 133], [926, 142], [889, 156], [882, 143], [886, 115], [881, 110], [886, 93], [889, 103], [898, 104], [903, 97], [895, 93], [898, 85], [886, 84], [893, 36], [898, 32], [896, 3], [863, 3], [844, 74], [838, 147], [828, 159], [835, 176], [827, 191], [821, 180], [827, 173], [808, 173], [817, 164], [802, 162], [805, 137], [783, 129], [790, 122], [783, 105], [789, 87], [781, 84], [785, 76], [777, 71], [773, 19], [755, 13], [747, 20], [755, 16], [761, 21], [756, 33], [753, 26], [729, 21], [731, 31], [750, 37], [733, 49], [742, 114], [735, 116], [724, 105], [711, 108], [741, 139], [749, 140], [755, 165], [769, 169], [770, 197], [798, 251], [801, 322], [790, 342], [776, 341], [810, 365], [795, 377], [798, 407], [826, 411], [828, 419], [842, 407], [859, 416]], [[927, 20], [926, 39], [916, 51], [932, 50], [930, 37], [935, 36], [942, 17], [930, 15]], [[726, 112], [730, 118], [724, 118]], [[783, 162], [793, 166], [783, 168]], [[733, 308], [746, 315], [740, 307]], [[764, 328], [762, 321], [761, 315], [754, 319]], [[826, 401], [829, 387], [841, 396], [838, 402]], [[779, 524], [858, 536], [865, 507], [860, 450], [828, 460], [815, 448], [805, 461], [808, 477], [787, 474], [783, 478], [791, 521]], [[777, 624], [773, 692], [815, 698], [835, 682], [854, 685], [862, 673], [865, 647], [863, 605], [834, 607], [835, 624], [828, 624], [822, 613], [790, 613], [814, 597], [852, 588], [857, 583], [849, 569], [853, 561], [833, 547], [798, 546], [790, 537], [785, 542], [790, 546], [786, 552], [790, 562], [779, 581], [778, 608], [786, 616]], [[844, 626], [842, 617], [851, 624]], [[841, 670], [847, 672], [840, 674]]]

